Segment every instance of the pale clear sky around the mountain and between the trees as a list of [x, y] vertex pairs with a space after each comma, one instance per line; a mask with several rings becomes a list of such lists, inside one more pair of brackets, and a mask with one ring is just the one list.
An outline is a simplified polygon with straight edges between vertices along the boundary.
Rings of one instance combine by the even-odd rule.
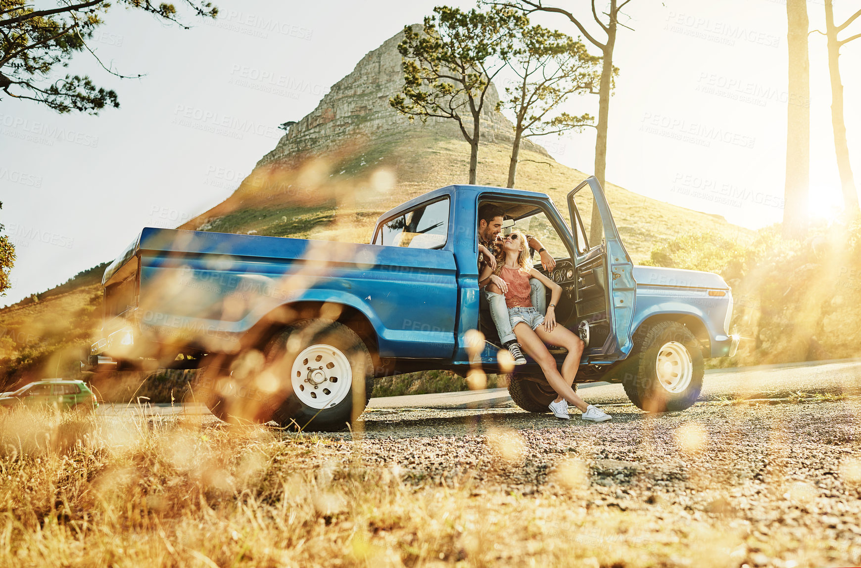
[[[438, 2], [214, 3], [219, 18], [187, 18], [190, 30], [135, 10], [108, 13], [97, 53], [117, 71], [146, 77], [121, 81], [85, 53], [69, 71], [117, 90], [120, 109], [93, 117], [0, 102], [0, 222], [18, 254], [14, 287], [0, 306], [112, 260], [143, 226], [177, 226], [225, 199], [276, 145], [278, 124], [310, 112], [366, 52]], [[841, 22], [857, 9], [835, 4]], [[616, 42], [621, 73], [610, 102], [607, 179], [747, 227], [779, 221], [784, 0], [633, 0], [625, 11], [635, 31], [621, 29]], [[808, 2], [811, 28], [824, 28], [823, 13], [821, 0]], [[561, 17], [533, 21], [577, 35]], [[852, 29], [861, 31], [861, 21]], [[810, 60], [811, 212], [827, 215], [841, 198], [819, 34], [810, 36]], [[843, 48], [840, 63], [858, 180], [861, 40]], [[597, 108], [597, 97], [587, 96], [567, 109]], [[592, 172], [594, 130], [536, 141], [561, 163]]]

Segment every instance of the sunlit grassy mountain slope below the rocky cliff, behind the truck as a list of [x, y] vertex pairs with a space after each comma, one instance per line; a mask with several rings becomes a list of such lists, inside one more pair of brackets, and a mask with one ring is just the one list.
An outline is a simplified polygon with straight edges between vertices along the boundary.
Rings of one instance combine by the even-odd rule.
[[[510, 151], [507, 145], [481, 147], [479, 183], [505, 185]], [[466, 142], [429, 130], [264, 167], [226, 201], [182, 228], [367, 243], [381, 213], [432, 189], [464, 182], [468, 157]], [[531, 151], [521, 152], [521, 159], [517, 188], [549, 194], [567, 214], [567, 192], [587, 175]], [[720, 216], [607, 185], [616, 225], [635, 262], [647, 259], [657, 244], [688, 232], [752, 238], [753, 232]]]

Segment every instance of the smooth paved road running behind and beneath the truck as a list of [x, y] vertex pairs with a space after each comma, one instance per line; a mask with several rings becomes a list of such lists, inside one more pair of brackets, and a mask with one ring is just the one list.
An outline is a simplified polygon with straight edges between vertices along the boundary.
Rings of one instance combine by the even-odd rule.
[[[595, 383], [581, 385], [581, 394], [592, 404], [625, 404], [622, 385]], [[817, 394], [861, 394], [861, 360], [843, 360], [760, 367], [715, 369], [706, 372], [700, 400], [721, 398], [787, 398], [797, 392]], [[504, 388], [475, 392], [443, 392], [403, 397], [371, 398], [370, 409], [445, 409], [504, 408], [511, 406]], [[170, 415], [208, 414], [202, 404], [102, 404], [101, 414]]]

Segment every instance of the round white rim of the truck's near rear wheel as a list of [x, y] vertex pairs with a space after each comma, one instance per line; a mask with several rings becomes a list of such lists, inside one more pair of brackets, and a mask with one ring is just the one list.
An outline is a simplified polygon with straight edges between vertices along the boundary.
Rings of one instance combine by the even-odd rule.
[[311, 408], [331, 408], [350, 392], [353, 369], [340, 349], [320, 343], [296, 356], [290, 369], [290, 382], [303, 404]]

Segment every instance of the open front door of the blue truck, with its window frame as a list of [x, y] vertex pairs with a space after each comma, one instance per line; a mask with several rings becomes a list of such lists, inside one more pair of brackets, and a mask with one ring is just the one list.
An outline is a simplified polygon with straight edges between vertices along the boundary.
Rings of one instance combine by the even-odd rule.
[[579, 335], [591, 363], [623, 358], [631, 349], [634, 263], [619, 238], [610, 206], [591, 176], [568, 194], [574, 235], [575, 296]]

